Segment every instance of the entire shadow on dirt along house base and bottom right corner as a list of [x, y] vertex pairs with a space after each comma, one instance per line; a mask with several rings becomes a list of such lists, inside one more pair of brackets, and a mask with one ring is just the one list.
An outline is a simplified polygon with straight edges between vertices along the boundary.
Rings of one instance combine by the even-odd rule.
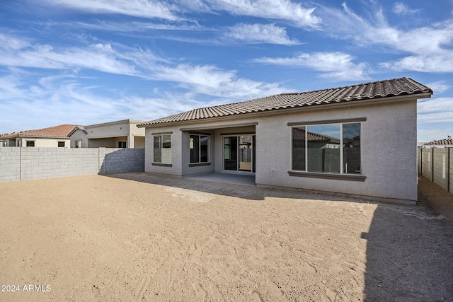
[[[219, 184], [149, 173], [105, 176], [251, 200], [280, 197], [370, 202], [340, 194]], [[453, 301], [453, 219], [436, 212], [437, 208], [432, 206], [438, 196], [432, 192], [436, 187], [424, 182], [419, 190], [420, 187], [423, 192], [419, 192], [417, 205], [372, 202], [377, 208], [368, 232], [362, 233], [367, 240], [364, 289], [367, 302]]]

